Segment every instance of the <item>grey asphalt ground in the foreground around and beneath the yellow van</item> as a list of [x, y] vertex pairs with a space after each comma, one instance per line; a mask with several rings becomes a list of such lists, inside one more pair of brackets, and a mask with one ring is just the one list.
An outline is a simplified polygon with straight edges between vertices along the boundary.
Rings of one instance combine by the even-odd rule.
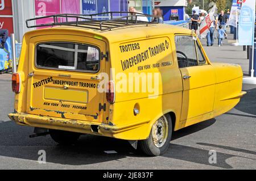
[[[49, 136], [29, 138], [33, 128], [7, 118], [14, 95], [11, 82], [0, 78], [0, 169], [256, 169], [256, 86], [243, 90], [248, 94], [232, 111], [175, 132], [166, 154], [146, 157], [112, 138], [82, 136], [73, 146], [59, 146]], [[46, 164], [38, 162], [39, 150], [46, 151]]]

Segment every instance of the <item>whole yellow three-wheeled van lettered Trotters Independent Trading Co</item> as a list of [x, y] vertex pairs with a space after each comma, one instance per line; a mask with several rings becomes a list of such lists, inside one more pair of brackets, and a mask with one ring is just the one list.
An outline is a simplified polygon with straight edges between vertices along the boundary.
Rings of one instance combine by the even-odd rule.
[[27, 32], [10, 119], [59, 144], [94, 134], [160, 155], [172, 132], [240, 102], [240, 66], [212, 64], [191, 30], [136, 17], [55, 15]]

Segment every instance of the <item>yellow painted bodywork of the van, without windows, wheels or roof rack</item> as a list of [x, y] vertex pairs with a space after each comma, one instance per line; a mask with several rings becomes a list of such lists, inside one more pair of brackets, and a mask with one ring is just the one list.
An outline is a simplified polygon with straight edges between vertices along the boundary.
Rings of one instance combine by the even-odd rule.
[[[20, 93], [15, 95], [15, 111], [10, 119], [30, 127], [145, 140], [155, 121], [167, 113], [171, 113], [177, 131], [236, 106], [245, 94], [241, 67], [212, 64], [202, 47], [205, 65], [179, 69], [175, 35], [195, 36], [191, 30], [164, 24], [104, 32], [61, 26], [26, 33], [18, 67]], [[47, 42], [89, 44], [102, 54], [109, 53], [109, 57], [101, 57], [97, 73], [38, 68], [34, 61], [36, 45]], [[124, 48], [129, 46], [132, 50]], [[141, 61], [135, 60], [138, 57]], [[98, 79], [101, 73], [109, 75], [116, 90], [123, 90], [115, 92], [113, 104], [107, 102], [105, 93], [97, 92], [103, 80]], [[185, 75], [191, 79], [184, 80]], [[129, 76], [139, 84], [120, 82]], [[46, 85], [36, 89], [32, 86], [42, 80]], [[158, 91], [143, 89], [144, 80]], [[71, 85], [65, 86], [65, 82]], [[124, 86], [129, 83], [133, 88], [126, 92]], [[135, 107], [139, 108], [138, 115], [134, 114]]]

